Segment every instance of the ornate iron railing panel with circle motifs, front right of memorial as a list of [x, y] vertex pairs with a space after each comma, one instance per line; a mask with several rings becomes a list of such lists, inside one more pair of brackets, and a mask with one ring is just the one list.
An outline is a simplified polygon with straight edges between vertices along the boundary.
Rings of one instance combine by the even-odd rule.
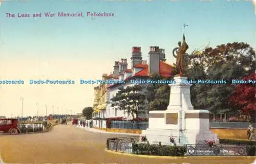
[[246, 145], [186, 145], [187, 156], [247, 156]]

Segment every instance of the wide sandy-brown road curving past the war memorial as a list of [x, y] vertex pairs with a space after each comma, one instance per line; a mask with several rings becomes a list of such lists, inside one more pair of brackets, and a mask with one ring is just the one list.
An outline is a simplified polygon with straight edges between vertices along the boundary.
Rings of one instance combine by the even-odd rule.
[[46, 133], [0, 136], [1, 156], [6, 163], [222, 163], [249, 164], [252, 160], [159, 159], [105, 152], [106, 138], [125, 135], [87, 131], [57, 125]]

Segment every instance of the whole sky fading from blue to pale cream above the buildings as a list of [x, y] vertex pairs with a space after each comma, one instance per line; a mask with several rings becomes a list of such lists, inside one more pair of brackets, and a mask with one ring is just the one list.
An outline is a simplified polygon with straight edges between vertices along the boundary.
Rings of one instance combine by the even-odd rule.
[[[45, 17], [45, 12], [82, 12], [84, 17]], [[115, 16], [91, 17], [87, 12]], [[18, 13], [30, 17], [19, 18]], [[160, 46], [172, 64], [184, 21], [188, 53], [234, 41], [256, 47], [250, 1], [3, 1], [0, 79], [25, 84], [0, 84], [0, 115], [20, 116], [22, 108], [24, 116], [37, 115], [37, 102], [39, 115], [81, 112], [93, 105], [95, 85], [79, 84], [80, 79], [101, 79], [120, 58], [127, 58], [130, 68], [132, 46], [141, 46], [144, 60], [150, 46]], [[72, 79], [75, 84], [32, 85], [30, 79]]]

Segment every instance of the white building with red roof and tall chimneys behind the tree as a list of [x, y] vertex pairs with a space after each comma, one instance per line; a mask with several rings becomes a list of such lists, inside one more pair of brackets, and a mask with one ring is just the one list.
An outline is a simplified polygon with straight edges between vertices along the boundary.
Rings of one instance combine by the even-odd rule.
[[[165, 63], [164, 49], [159, 49], [158, 46], [151, 46], [150, 52], [148, 53], [148, 64], [141, 57], [141, 48], [133, 47], [132, 51], [132, 69], [127, 69], [126, 59], [121, 59], [121, 61], [115, 61], [113, 79], [125, 80], [124, 84], [109, 84], [107, 86], [107, 96], [106, 96], [106, 110], [104, 113], [105, 118], [126, 118], [131, 120], [132, 115], [127, 113], [125, 110], [120, 110], [118, 107], [112, 107], [111, 99], [116, 96], [120, 87], [126, 88], [127, 86], [134, 86], [131, 83], [132, 80], [148, 79], [151, 73], [158, 73], [163, 77], [169, 77], [173, 73], [173, 65]], [[141, 92], [145, 93], [145, 90]], [[144, 113], [140, 113], [138, 116], [134, 114], [135, 118], [148, 118], [148, 103], [145, 100]], [[103, 114], [103, 113], [102, 113]], [[101, 115], [99, 115], [101, 117]]]

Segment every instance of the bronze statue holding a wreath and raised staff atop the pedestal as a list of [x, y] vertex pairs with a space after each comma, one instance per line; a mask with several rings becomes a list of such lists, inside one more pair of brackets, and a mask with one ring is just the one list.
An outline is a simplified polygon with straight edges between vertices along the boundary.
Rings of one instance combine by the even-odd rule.
[[[184, 24], [184, 29], [187, 25]], [[184, 31], [183, 31], [183, 41], [182, 41], [182, 44], [181, 42], [179, 41], [178, 42], [178, 45], [179, 47], [175, 48], [173, 50], [173, 55], [174, 57], [176, 58], [176, 66], [178, 68], [178, 74], [179, 76], [183, 76], [183, 66], [182, 66], [182, 63], [183, 63], [183, 60], [184, 60], [184, 54], [186, 53], [187, 49], [188, 49], [188, 45], [186, 43], [186, 40], [185, 40], [185, 34], [184, 34]], [[175, 55], [176, 53], [176, 55]]]

